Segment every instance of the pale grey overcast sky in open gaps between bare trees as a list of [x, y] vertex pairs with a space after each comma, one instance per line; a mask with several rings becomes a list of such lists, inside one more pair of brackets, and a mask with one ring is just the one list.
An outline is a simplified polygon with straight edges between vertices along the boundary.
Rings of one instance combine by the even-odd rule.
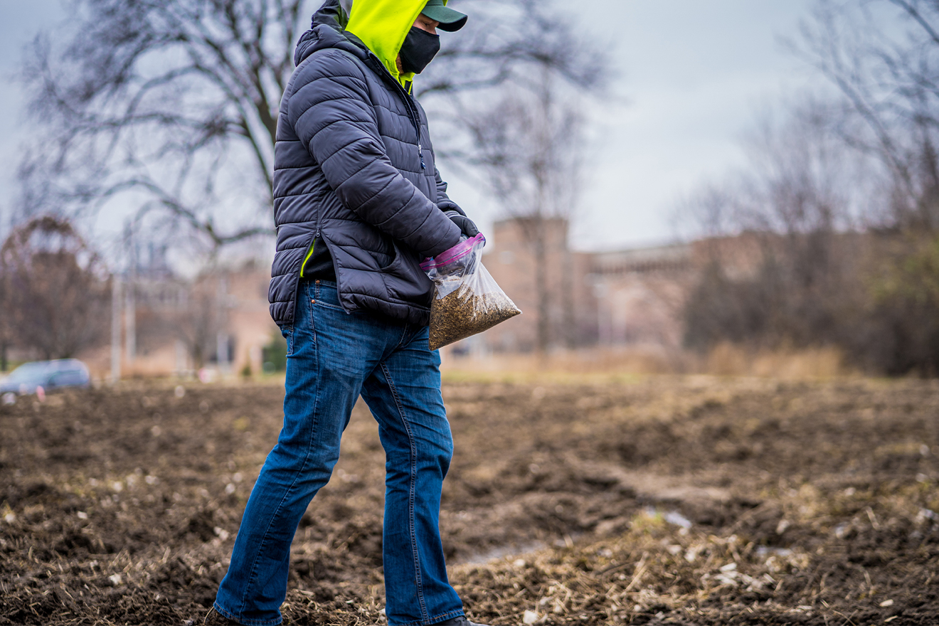
[[[778, 44], [812, 0], [593, 0], [585, 32], [610, 42], [624, 104], [594, 115], [596, 137], [577, 216], [577, 248], [649, 245], [672, 237], [672, 211], [702, 182], [744, 164], [740, 137], [755, 114], [818, 81]], [[582, 10], [580, 8], [583, 8]], [[29, 135], [10, 81], [23, 45], [63, 19], [57, 0], [0, 0], [0, 210]], [[446, 174], [444, 172], [444, 174]], [[481, 221], [485, 199], [454, 180], [451, 196]]]

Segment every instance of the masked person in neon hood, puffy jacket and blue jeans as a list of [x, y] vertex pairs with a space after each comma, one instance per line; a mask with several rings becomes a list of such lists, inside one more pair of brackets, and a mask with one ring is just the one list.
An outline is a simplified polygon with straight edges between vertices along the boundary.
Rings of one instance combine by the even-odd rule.
[[447, 196], [412, 92], [437, 29], [466, 22], [445, 0], [327, 0], [300, 38], [274, 147], [269, 301], [287, 342], [284, 426], [206, 624], [281, 623], [290, 543], [360, 394], [386, 454], [388, 623], [472, 624], [440, 542], [453, 439], [420, 263], [478, 230]]

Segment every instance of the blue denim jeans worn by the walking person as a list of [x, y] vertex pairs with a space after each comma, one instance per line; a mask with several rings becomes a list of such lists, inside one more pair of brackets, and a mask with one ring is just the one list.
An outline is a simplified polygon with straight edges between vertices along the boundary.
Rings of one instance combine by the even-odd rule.
[[290, 543], [330, 480], [359, 395], [385, 449], [382, 557], [392, 626], [463, 615], [447, 581], [439, 510], [453, 438], [440, 396], [440, 359], [427, 327], [345, 313], [335, 283], [301, 282], [287, 340], [284, 428], [254, 483], [215, 608], [249, 626], [281, 623]]

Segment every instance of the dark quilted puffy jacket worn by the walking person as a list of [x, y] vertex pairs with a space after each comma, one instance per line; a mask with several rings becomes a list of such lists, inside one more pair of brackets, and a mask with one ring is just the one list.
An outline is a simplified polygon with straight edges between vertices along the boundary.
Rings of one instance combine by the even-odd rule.
[[[459, 228], [422, 107], [341, 25], [327, 0], [297, 46], [274, 146], [270, 314], [293, 322], [300, 267], [316, 239], [329, 248], [346, 312], [429, 319], [424, 257], [454, 246]], [[462, 211], [460, 211], [462, 212]]]

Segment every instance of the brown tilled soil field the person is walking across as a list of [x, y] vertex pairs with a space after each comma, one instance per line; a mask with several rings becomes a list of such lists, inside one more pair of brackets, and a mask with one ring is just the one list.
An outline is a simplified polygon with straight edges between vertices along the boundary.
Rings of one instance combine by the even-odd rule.
[[[939, 385], [451, 382], [441, 530], [470, 617], [939, 623]], [[0, 624], [184, 624], [276, 440], [271, 386], [0, 406]], [[293, 546], [291, 624], [380, 624], [384, 459], [363, 406]]]

